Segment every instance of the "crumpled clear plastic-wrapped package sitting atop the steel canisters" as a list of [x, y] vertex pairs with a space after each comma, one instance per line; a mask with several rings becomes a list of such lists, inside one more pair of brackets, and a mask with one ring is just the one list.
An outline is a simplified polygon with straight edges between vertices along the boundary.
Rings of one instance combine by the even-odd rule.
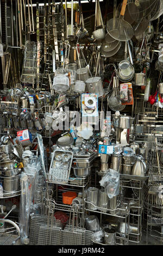
[[104, 187], [105, 193], [109, 198], [118, 196], [120, 193], [120, 173], [116, 170], [109, 169], [103, 176], [99, 184]]

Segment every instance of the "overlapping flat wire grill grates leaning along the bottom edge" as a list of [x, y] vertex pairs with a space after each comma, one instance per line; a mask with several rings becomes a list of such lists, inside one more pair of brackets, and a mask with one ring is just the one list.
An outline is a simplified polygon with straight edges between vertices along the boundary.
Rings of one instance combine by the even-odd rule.
[[48, 223], [48, 216], [33, 215], [30, 220], [30, 245], [92, 245], [92, 232], [84, 228], [65, 225], [60, 221]]

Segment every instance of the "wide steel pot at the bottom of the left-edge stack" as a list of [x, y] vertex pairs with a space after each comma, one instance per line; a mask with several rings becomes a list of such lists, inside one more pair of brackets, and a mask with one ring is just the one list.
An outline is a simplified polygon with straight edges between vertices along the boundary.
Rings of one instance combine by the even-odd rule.
[[4, 192], [16, 192], [20, 187], [20, 175], [1, 177], [3, 180], [3, 190]]

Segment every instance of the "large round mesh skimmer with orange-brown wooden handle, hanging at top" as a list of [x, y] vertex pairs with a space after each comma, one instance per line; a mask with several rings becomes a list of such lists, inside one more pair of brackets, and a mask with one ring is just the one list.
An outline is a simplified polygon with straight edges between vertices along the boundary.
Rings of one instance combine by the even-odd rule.
[[130, 40], [133, 35], [133, 27], [123, 19], [126, 10], [127, 0], [123, 0], [120, 17], [106, 22], [106, 29], [112, 38], [120, 41]]

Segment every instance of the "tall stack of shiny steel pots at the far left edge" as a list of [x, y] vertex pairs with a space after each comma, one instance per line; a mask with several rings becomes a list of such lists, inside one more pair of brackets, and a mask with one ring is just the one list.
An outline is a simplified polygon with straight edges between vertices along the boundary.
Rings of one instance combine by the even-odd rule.
[[15, 196], [20, 190], [20, 168], [13, 154], [11, 144], [0, 146], [0, 182], [3, 197]]

